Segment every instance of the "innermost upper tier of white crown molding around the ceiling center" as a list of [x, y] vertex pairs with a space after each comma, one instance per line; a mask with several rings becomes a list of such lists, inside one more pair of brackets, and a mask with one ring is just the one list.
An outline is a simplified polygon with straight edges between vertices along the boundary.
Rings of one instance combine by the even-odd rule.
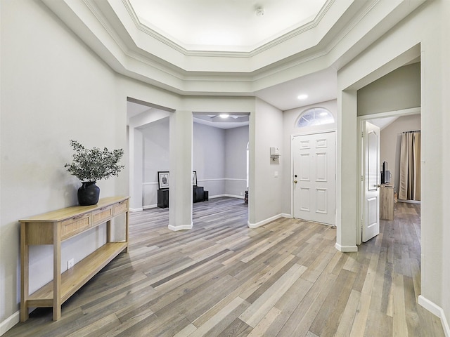
[[[333, 35], [338, 34], [332, 28], [338, 25], [342, 18], [351, 19], [350, 15], [345, 16], [347, 11], [356, 12], [366, 2], [328, 0], [314, 21], [244, 52], [188, 50], [143, 25], [131, 8], [129, 0], [84, 1], [96, 4], [97, 8], [100, 8], [100, 13], [96, 13], [96, 17], [103, 15], [100, 20], [102, 24], [106, 27], [114, 27], [124, 44], [135, 53], [160, 63], [167, 62], [169, 67], [174, 67], [179, 72], [236, 72], [240, 74], [257, 72], [292, 56], [302, 58], [302, 54], [311, 55], [314, 49], [323, 48], [320, 46], [323, 39], [331, 40]], [[342, 22], [340, 25], [344, 26], [346, 23]]]

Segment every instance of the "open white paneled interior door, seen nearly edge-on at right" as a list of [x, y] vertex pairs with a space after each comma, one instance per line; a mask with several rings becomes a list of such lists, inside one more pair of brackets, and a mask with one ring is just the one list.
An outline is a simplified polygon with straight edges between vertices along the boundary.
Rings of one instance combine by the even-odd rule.
[[380, 234], [380, 128], [368, 121], [363, 126], [362, 241]]

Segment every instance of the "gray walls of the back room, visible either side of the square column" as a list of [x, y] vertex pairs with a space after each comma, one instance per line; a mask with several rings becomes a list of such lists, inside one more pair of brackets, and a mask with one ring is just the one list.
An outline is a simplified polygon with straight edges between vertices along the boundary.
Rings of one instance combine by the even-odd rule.
[[[148, 124], [143, 134], [143, 208], [158, 202], [158, 171], [169, 171], [169, 119]], [[247, 188], [248, 126], [221, 129], [193, 124], [193, 171], [210, 197], [243, 197]]]

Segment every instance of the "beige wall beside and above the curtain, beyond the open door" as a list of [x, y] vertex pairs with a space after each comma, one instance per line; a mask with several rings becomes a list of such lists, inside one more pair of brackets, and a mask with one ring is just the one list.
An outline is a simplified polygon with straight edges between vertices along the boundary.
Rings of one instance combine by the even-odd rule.
[[420, 114], [397, 118], [380, 132], [380, 163], [387, 161], [391, 185], [399, 192], [401, 133], [420, 130]]

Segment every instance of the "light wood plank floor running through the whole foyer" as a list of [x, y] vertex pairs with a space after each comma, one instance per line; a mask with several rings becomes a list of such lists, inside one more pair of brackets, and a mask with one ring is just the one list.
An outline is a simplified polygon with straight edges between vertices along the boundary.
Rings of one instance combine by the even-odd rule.
[[4, 336], [444, 336], [420, 294], [420, 206], [397, 204], [381, 234], [341, 253], [333, 227], [282, 218], [247, 227], [247, 205], [194, 204], [194, 228], [167, 209], [131, 213], [130, 250], [63, 305]]

